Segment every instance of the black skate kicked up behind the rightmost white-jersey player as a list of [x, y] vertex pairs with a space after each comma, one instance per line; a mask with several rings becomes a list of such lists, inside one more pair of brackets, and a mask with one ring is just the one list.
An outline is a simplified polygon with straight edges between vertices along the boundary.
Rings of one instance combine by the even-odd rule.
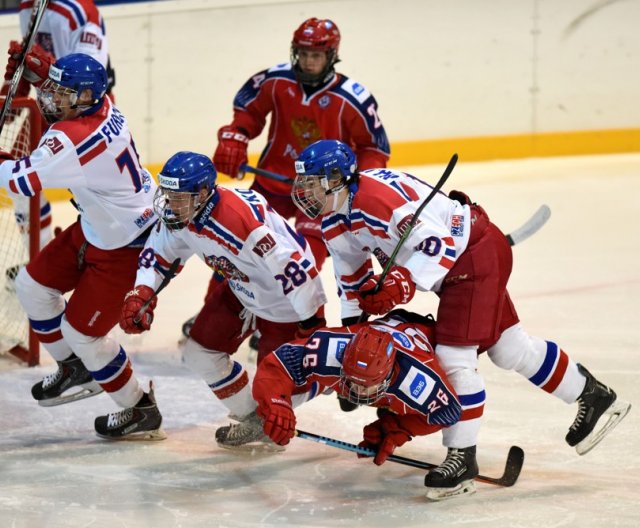
[[[587, 383], [578, 397], [578, 414], [565, 440], [570, 446], [575, 446], [579, 455], [584, 455], [618, 425], [631, 409], [631, 404], [619, 400], [613, 390], [594, 378], [582, 365], [578, 364], [578, 370], [587, 378]], [[596, 429], [598, 423], [600, 427]]]

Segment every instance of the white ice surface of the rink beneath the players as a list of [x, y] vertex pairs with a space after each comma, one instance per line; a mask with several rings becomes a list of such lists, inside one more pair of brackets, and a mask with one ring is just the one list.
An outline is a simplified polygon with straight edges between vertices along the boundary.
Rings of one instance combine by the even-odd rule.
[[[434, 182], [444, 167], [411, 168]], [[480, 470], [502, 472], [510, 445], [525, 465], [513, 488], [478, 484], [475, 495], [424, 498], [424, 472], [374, 466], [352, 453], [295, 439], [281, 454], [219, 449], [228, 423], [204, 382], [180, 363], [177, 339], [209, 272], [192, 260], [160, 296], [153, 329], [124, 336], [138, 377], [153, 378], [169, 438], [157, 443], [98, 439], [93, 419], [115, 410], [106, 395], [39, 407], [30, 387], [53, 370], [0, 358], [0, 528], [244, 526], [459, 526], [464, 528], [640, 526], [640, 155], [460, 163], [445, 189], [461, 188], [505, 231], [542, 203], [548, 224], [514, 248], [510, 291], [525, 328], [557, 341], [634, 408], [596, 449], [580, 457], [564, 442], [576, 406], [566, 405], [482, 358], [487, 384]], [[54, 223], [73, 212], [54, 206]], [[330, 323], [339, 314], [330, 262], [322, 273]], [[411, 303], [433, 311], [422, 294]], [[247, 359], [246, 345], [239, 351]], [[341, 413], [335, 397], [298, 409], [299, 428], [357, 443], [372, 409]], [[397, 454], [440, 462], [440, 435]]]

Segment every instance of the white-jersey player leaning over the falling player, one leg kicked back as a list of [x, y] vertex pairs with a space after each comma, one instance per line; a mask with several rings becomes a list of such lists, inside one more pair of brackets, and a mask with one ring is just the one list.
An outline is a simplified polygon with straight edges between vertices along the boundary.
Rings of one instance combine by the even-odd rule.
[[424, 208], [380, 289], [371, 257], [384, 267], [432, 187], [388, 169], [358, 171], [352, 150], [321, 140], [295, 163], [296, 205], [321, 217], [342, 301], [343, 324], [361, 310], [383, 314], [416, 289], [440, 297], [436, 355], [462, 403], [460, 422], [443, 431], [444, 462], [425, 480], [454, 489], [477, 475], [476, 443], [485, 402], [478, 352], [515, 370], [578, 412], [566, 436], [579, 454], [592, 449], [629, 411], [627, 402], [574, 363], [553, 341], [528, 335], [507, 291], [512, 251], [482, 207], [461, 192], [438, 193]]

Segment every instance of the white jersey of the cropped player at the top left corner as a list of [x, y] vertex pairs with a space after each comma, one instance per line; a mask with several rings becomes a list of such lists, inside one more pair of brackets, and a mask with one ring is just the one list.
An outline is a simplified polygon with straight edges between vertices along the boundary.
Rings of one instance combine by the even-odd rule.
[[[27, 33], [33, 0], [20, 2], [20, 29]], [[105, 68], [109, 45], [104, 21], [93, 0], [50, 0], [36, 42], [56, 59], [70, 53], [91, 55]]]

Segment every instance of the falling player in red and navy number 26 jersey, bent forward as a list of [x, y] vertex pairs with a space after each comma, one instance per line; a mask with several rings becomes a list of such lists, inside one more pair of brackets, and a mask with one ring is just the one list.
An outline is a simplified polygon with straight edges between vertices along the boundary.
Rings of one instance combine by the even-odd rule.
[[[292, 397], [335, 390], [357, 405], [385, 408], [365, 426], [361, 447], [376, 451], [380, 465], [415, 436], [455, 424], [462, 412], [433, 351], [435, 323], [405, 310], [375, 321], [314, 332], [306, 341], [278, 348], [258, 365], [253, 396], [264, 432], [286, 445], [295, 435]], [[359, 455], [361, 456], [361, 455]], [[459, 485], [473, 493], [473, 475]], [[427, 497], [441, 498], [438, 490]]]

